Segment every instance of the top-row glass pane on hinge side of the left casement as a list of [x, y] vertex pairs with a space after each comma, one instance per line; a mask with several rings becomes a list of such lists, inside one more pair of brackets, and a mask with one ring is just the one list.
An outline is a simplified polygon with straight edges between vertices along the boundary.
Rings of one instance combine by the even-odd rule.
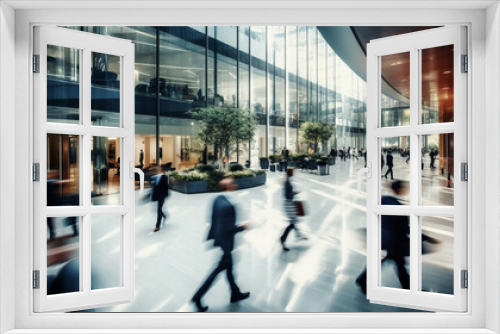
[[47, 45], [47, 122], [80, 123], [80, 50]]

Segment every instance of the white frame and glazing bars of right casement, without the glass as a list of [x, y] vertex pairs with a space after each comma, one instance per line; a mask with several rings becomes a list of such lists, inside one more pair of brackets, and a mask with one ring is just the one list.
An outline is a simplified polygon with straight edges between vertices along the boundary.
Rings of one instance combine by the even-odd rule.
[[[421, 50], [453, 45], [454, 121], [422, 124], [422, 56]], [[467, 185], [460, 180], [460, 164], [467, 163], [467, 74], [461, 71], [461, 56], [467, 54], [466, 28], [450, 26], [403, 34], [371, 41], [367, 46], [367, 151], [371, 163], [371, 178], [367, 180], [367, 297], [370, 301], [386, 305], [411, 305], [423, 310], [464, 312], [467, 309], [467, 290], [461, 288], [461, 270], [467, 270]], [[408, 52], [410, 67], [410, 124], [382, 127], [382, 61], [381, 57]], [[421, 136], [428, 134], [454, 134], [455, 186], [451, 206], [425, 206], [422, 204]], [[409, 205], [380, 205], [380, 169], [382, 138], [409, 137], [410, 203]], [[381, 220], [382, 215], [408, 216], [410, 223], [410, 289], [381, 286]], [[453, 287], [451, 295], [421, 291], [422, 217], [453, 218]]]

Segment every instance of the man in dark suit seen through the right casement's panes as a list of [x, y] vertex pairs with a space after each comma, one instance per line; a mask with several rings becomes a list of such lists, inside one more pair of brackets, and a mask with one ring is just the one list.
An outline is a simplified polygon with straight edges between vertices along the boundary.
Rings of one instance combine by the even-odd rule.
[[[408, 191], [408, 183], [405, 181], [394, 181], [392, 191], [398, 197]], [[382, 196], [382, 205], [402, 205], [396, 196]], [[405, 256], [410, 256], [410, 222], [408, 216], [382, 216], [381, 225], [382, 249], [387, 251], [382, 263], [393, 261], [398, 271], [401, 288], [410, 289], [410, 275], [405, 268]], [[366, 294], [366, 269], [356, 279], [356, 284]]]

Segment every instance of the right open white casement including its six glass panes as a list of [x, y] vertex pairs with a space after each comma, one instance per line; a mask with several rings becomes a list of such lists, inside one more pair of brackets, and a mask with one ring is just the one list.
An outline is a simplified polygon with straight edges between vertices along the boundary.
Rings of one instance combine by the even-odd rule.
[[[371, 302], [466, 311], [465, 38], [465, 28], [445, 27], [368, 44]], [[406, 107], [386, 106], [387, 95]]]

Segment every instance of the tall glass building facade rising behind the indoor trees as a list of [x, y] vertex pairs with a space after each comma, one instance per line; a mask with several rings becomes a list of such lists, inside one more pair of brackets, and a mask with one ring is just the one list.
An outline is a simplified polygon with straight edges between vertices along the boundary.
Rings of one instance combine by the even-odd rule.
[[[238, 143], [229, 161], [256, 168], [259, 157], [306, 153], [300, 124], [323, 121], [334, 135], [320, 143], [365, 147], [366, 82], [356, 75], [314, 26], [70, 27], [131, 40], [136, 46], [136, 165], [190, 168], [213, 161], [218, 147], [197, 138], [193, 108], [233, 105], [257, 119], [252, 141]], [[78, 61], [78, 60], [75, 60]], [[96, 125], [120, 119], [119, 66], [95, 54], [92, 115]], [[49, 75], [49, 81], [60, 80]], [[50, 87], [50, 86], [49, 86]], [[102, 100], [102, 101], [100, 101]], [[427, 107], [427, 106], [426, 106]], [[382, 96], [382, 122], [408, 122], [408, 104]], [[95, 116], [95, 117], [94, 117]], [[108, 157], [116, 164], [117, 157]]]

